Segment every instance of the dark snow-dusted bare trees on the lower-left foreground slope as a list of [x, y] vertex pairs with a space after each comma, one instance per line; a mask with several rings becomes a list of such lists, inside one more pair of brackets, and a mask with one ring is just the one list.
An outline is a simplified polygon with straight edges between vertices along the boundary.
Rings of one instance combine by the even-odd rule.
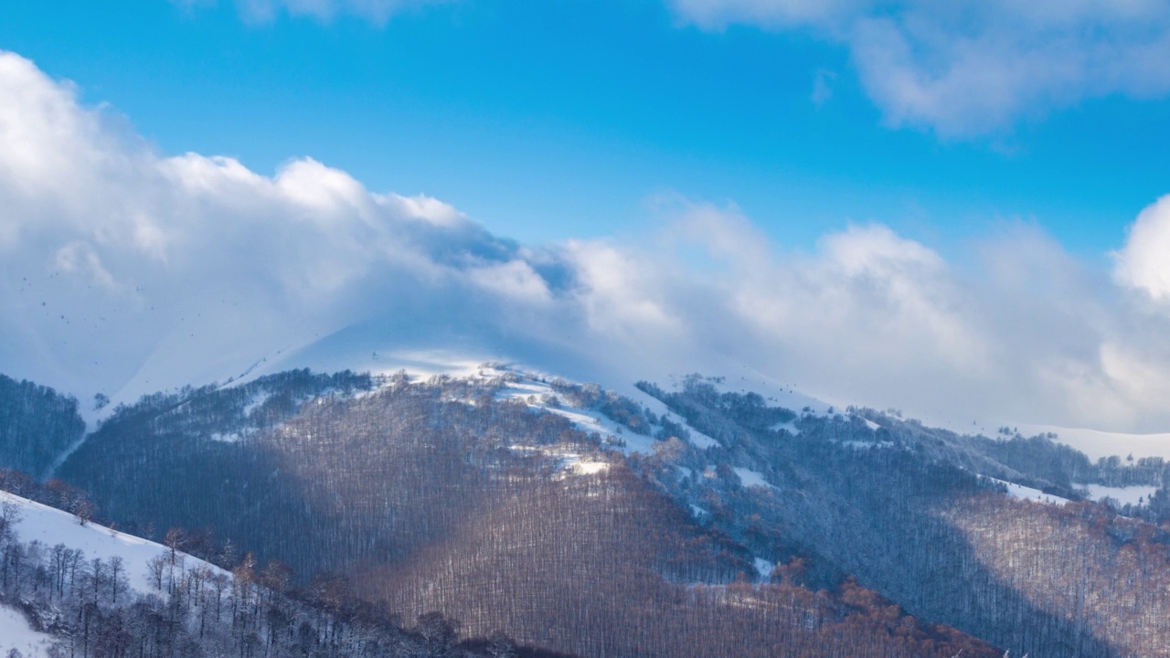
[[[32, 628], [53, 636], [50, 657], [481, 658], [505, 656], [501, 647], [512, 656], [544, 656], [517, 647], [505, 636], [462, 637], [459, 624], [439, 614], [401, 628], [384, 610], [364, 610], [349, 598], [325, 610], [310, 596], [295, 598], [269, 587], [287, 583], [287, 569], [280, 564], [259, 575], [245, 564], [236, 574], [253, 580], [239, 583], [206, 563], [187, 568], [176, 558], [173, 573], [159, 571], [161, 588], [135, 591], [125, 587], [128, 564], [118, 557], [88, 557], [63, 544], [46, 549], [39, 542], [21, 543], [11, 523], [6, 529], [9, 555], [19, 548], [22, 558], [7, 563], [9, 581], [0, 588], [0, 606], [16, 608]], [[160, 557], [164, 567], [172, 562], [165, 554]], [[129, 566], [136, 567], [142, 566]], [[64, 575], [74, 568], [76, 577]], [[119, 582], [123, 589], [116, 598], [113, 584]], [[218, 619], [215, 611], [233, 588], [240, 597], [236, 615]]]

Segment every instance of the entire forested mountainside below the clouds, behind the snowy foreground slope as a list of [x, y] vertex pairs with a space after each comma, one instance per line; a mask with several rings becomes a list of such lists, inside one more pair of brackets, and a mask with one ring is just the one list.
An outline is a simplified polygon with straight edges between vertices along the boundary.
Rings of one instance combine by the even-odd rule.
[[386, 618], [579, 656], [1165, 654], [1161, 459], [766, 384], [255, 375], [111, 405], [43, 486]]

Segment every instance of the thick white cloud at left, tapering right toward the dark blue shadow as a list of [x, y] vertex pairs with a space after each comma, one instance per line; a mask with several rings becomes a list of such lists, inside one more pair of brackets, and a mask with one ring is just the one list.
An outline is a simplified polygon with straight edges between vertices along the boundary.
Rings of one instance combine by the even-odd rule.
[[[221, 379], [367, 317], [395, 288], [436, 304], [469, 280], [502, 300], [541, 294], [516, 245], [434, 199], [373, 194], [308, 158], [266, 177], [165, 157], [108, 123], [0, 54], [0, 364], [14, 375], [108, 392]], [[171, 381], [139, 371], [152, 359]]]

